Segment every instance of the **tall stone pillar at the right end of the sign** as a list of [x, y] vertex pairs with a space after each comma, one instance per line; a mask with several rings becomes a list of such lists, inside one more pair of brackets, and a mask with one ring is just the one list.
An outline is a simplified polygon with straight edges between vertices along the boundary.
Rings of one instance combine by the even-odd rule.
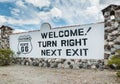
[[102, 10], [105, 22], [105, 59], [120, 49], [120, 6], [109, 5]]

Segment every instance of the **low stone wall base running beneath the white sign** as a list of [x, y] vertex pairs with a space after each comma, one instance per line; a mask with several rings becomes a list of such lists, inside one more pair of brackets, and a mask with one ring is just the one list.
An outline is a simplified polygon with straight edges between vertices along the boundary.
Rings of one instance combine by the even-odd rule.
[[39, 66], [49, 68], [68, 68], [68, 69], [102, 69], [104, 67], [103, 60], [81, 60], [81, 59], [45, 59], [45, 58], [14, 58], [15, 64], [27, 66]]

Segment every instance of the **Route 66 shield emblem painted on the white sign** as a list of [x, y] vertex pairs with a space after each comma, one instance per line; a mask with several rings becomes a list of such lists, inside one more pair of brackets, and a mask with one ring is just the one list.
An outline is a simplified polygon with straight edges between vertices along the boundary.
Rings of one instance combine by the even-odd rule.
[[31, 36], [24, 35], [18, 38], [18, 52], [28, 54], [32, 51]]

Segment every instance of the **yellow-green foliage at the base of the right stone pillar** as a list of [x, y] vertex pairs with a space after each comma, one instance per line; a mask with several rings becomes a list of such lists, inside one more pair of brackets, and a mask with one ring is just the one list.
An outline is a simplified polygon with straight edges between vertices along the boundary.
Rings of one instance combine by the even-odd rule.
[[113, 56], [109, 61], [108, 61], [108, 65], [116, 65], [117, 69], [120, 69], [120, 50], [116, 51], [118, 53], [118, 55]]

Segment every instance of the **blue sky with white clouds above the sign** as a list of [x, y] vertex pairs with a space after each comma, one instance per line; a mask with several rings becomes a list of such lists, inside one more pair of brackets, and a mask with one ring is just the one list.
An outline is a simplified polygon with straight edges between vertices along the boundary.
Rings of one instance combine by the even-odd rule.
[[101, 10], [120, 0], [0, 0], [0, 26], [15, 32], [103, 22]]

